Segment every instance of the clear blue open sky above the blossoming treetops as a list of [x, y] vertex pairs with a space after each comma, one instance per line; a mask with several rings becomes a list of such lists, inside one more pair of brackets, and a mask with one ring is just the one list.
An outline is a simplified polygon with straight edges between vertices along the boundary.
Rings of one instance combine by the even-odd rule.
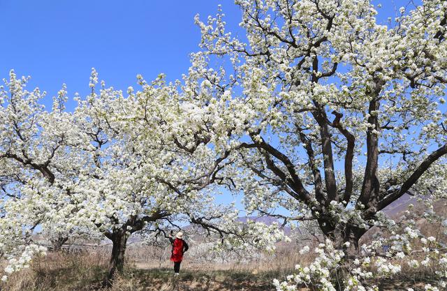
[[[380, 2], [383, 19], [408, 3]], [[88, 94], [92, 67], [116, 89], [135, 85], [137, 74], [152, 80], [166, 73], [175, 80], [186, 73], [189, 53], [198, 50], [194, 15], [205, 20], [219, 3], [230, 29], [241, 34], [232, 0], [0, 0], [0, 78], [11, 68], [31, 75], [30, 87], [47, 91], [48, 102], [62, 83], [70, 96]]]

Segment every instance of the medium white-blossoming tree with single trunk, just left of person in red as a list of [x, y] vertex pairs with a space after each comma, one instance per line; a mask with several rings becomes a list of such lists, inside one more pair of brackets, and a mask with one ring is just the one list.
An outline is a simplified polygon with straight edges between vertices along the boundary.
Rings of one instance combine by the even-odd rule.
[[130, 234], [144, 229], [166, 236], [166, 227], [182, 221], [217, 235], [222, 245], [274, 248], [283, 237], [277, 227], [238, 222], [234, 207], [213, 203], [219, 186], [232, 187], [222, 172], [233, 153], [204, 130], [203, 110], [163, 75], [152, 84], [138, 76], [138, 83], [142, 89], [129, 87], [126, 98], [112, 88], [92, 93], [75, 112], [88, 117], [80, 128], [96, 147], [94, 170], [80, 175], [80, 187], [99, 194], [87, 203], [96, 209], [89, 219], [114, 244], [108, 279], [114, 267], [122, 268]]

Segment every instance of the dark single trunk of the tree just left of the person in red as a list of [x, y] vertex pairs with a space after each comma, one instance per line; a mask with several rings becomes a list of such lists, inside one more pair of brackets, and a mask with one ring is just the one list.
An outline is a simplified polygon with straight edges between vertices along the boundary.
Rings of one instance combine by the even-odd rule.
[[123, 230], [118, 230], [112, 234], [112, 254], [110, 255], [108, 275], [107, 278], [105, 278], [105, 285], [110, 286], [115, 274], [123, 271], [124, 255], [126, 253], [126, 243], [128, 238], [129, 234], [126, 234]]

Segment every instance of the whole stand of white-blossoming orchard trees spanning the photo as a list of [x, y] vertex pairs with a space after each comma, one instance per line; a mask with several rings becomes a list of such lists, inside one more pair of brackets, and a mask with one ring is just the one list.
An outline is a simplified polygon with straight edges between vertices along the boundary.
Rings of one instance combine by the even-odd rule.
[[[235, 0], [244, 36], [225, 15], [195, 21], [200, 50], [181, 80], [137, 76], [126, 92], [92, 69], [88, 96], [66, 87], [52, 108], [14, 70], [0, 87], [2, 281], [47, 250], [87, 234], [112, 243], [112, 285], [135, 232], [185, 223], [216, 248], [267, 250], [280, 228], [242, 223], [234, 204], [282, 225], [314, 223], [315, 253], [279, 290], [379, 290], [374, 278], [436, 266], [447, 288], [447, 2], [425, 0], [381, 24], [369, 0]], [[404, 195], [423, 205], [426, 235]], [[379, 235], [365, 243], [367, 233]], [[445, 237], [444, 237], [445, 238]], [[383, 251], [386, 246], [386, 251]]]

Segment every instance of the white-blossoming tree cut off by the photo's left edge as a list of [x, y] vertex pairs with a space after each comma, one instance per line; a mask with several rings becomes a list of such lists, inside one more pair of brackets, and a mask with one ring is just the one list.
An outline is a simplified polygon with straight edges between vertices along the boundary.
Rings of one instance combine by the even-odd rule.
[[71, 117], [64, 112], [65, 90], [59, 91], [52, 111], [46, 112], [38, 103], [45, 92], [38, 88], [27, 91], [27, 81], [11, 71], [9, 80], [4, 80], [6, 87], [0, 87], [0, 228], [1, 254], [10, 261], [6, 274], [27, 267], [32, 254], [43, 251], [32, 244], [37, 225], [50, 226], [61, 234], [52, 237], [59, 244], [66, 241], [68, 232], [75, 231], [57, 224], [65, 205], [59, 194], [67, 193], [73, 181], [74, 164], [65, 149], [78, 144]]

